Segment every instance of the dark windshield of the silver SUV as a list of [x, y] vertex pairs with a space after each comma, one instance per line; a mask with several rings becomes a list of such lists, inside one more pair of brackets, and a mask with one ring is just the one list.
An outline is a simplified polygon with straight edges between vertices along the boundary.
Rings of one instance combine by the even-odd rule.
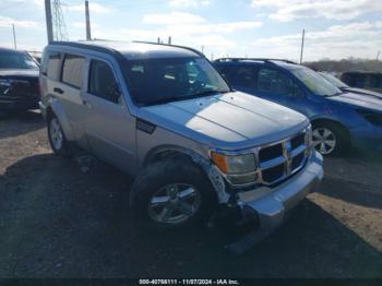
[[128, 61], [127, 78], [141, 106], [190, 99], [230, 91], [204, 58], [166, 58]]

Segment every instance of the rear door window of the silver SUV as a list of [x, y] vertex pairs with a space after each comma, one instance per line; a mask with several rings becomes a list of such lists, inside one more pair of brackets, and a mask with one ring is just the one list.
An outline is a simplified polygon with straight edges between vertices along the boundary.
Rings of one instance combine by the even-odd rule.
[[62, 65], [61, 81], [73, 87], [81, 88], [85, 58], [76, 55], [67, 55]]

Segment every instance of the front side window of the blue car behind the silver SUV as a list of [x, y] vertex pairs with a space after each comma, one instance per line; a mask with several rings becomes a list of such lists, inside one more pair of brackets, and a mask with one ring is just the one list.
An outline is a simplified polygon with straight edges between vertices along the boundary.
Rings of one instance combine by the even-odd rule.
[[302, 94], [291, 79], [274, 69], [259, 70], [258, 90], [274, 95], [299, 96]]

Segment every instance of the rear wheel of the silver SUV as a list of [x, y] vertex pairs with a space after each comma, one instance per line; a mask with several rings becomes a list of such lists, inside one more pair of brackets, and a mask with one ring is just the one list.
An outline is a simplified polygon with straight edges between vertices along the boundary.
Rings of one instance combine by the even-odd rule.
[[55, 115], [48, 117], [48, 138], [50, 147], [56, 155], [67, 158], [73, 156], [73, 145], [67, 140], [60, 121]]

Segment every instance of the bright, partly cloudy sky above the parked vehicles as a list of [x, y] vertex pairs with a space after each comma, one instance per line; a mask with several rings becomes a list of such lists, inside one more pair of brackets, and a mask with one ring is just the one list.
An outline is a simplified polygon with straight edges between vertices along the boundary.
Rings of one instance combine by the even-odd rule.
[[[61, 0], [70, 40], [84, 39], [84, 1]], [[381, 0], [89, 0], [92, 36], [167, 41], [214, 58], [374, 59], [382, 50]], [[46, 45], [44, 0], [0, 0], [0, 46]]]

